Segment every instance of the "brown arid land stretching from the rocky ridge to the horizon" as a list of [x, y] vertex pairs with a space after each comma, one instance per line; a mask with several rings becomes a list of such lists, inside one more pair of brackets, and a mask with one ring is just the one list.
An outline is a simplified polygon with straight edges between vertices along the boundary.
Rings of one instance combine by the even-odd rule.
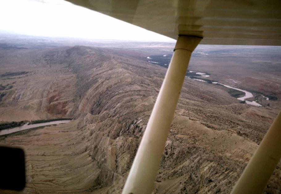
[[[0, 136], [0, 145], [26, 153], [27, 185], [18, 193], [121, 193], [167, 70], [147, 56], [171, 54], [173, 46], [0, 38], [0, 122], [73, 119]], [[154, 193], [231, 191], [281, 110], [280, 51], [195, 50], [189, 70], [249, 90], [262, 106], [242, 104], [220, 85], [185, 79]], [[264, 190], [280, 192], [281, 162]]]

